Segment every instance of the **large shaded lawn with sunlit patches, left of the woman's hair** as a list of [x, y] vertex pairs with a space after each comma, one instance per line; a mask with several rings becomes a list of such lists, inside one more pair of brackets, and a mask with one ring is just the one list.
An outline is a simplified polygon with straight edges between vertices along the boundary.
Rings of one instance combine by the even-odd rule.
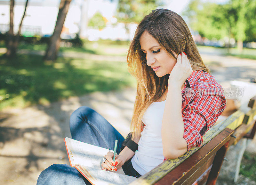
[[59, 57], [46, 63], [38, 55], [7, 60], [0, 54], [0, 74], [0, 110], [136, 85], [125, 62], [88, 59]]

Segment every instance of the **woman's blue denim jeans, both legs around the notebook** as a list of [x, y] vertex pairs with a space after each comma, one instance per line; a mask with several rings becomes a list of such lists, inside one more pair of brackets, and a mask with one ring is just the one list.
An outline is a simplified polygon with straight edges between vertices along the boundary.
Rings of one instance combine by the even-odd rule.
[[[116, 153], [121, 152], [124, 137], [104, 117], [89, 107], [82, 106], [72, 113], [70, 116], [70, 132], [72, 139], [111, 150], [114, 150], [114, 141], [117, 139]], [[141, 176], [132, 167], [131, 159], [126, 161], [122, 168], [126, 175], [136, 178]], [[51, 165], [37, 179], [37, 185], [74, 183], [91, 185], [75, 167], [66, 164]]]

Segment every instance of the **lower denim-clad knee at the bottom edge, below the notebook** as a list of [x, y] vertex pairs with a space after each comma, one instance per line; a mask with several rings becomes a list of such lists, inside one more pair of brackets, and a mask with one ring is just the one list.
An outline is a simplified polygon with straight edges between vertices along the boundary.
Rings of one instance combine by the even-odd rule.
[[39, 175], [36, 184], [74, 184], [74, 182], [85, 184], [76, 168], [66, 164], [53, 164]]

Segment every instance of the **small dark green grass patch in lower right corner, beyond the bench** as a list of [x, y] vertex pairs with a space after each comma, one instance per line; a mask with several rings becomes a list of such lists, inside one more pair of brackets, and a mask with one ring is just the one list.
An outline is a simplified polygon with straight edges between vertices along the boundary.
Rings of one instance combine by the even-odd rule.
[[240, 174], [256, 181], [256, 155], [255, 153], [244, 152], [240, 166]]

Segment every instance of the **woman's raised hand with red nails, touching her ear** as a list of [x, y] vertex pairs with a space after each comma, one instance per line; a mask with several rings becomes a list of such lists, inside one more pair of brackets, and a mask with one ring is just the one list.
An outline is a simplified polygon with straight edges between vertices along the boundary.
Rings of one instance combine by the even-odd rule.
[[168, 83], [178, 84], [181, 87], [192, 72], [187, 55], [185, 53], [178, 54], [177, 62], [170, 73]]

